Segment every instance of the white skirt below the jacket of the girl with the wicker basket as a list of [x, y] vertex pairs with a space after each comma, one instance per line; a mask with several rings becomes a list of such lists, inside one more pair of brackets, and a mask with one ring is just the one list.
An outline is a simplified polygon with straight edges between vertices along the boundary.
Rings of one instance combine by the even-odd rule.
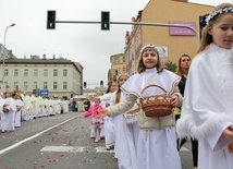
[[181, 169], [174, 128], [140, 129], [137, 144], [138, 169]]

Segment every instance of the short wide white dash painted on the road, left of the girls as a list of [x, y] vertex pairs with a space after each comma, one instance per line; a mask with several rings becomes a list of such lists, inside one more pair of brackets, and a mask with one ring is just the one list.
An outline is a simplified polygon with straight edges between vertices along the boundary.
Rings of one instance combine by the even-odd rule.
[[40, 152], [84, 152], [85, 147], [77, 147], [77, 146], [45, 146]]

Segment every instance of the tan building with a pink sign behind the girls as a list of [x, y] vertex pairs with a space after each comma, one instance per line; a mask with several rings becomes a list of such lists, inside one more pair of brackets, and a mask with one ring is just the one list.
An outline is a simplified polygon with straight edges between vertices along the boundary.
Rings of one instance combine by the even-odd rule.
[[150, 0], [132, 22], [157, 24], [182, 24], [188, 28], [169, 26], [134, 25], [125, 36], [126, 70], [130, 75], [137, 72], [140, 48], [146, 44], [158, 46], [163, 63], [177, 63], [183, 53], [195, 57], [199, 46], [200, 17], [210, 13], [213, 7], [189, 3], [187, 0]]

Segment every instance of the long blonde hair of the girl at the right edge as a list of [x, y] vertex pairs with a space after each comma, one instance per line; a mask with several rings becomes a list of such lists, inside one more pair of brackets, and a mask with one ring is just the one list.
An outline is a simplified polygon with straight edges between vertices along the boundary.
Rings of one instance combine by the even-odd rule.
[[[220, 9], [224, 9], [224, 8], [233, 8], [232, 3], [221, 3], [219, 5], [217, 5], [211, 13], [214, 13], [216, 11], [219, 11]], [[210, 45], [213, 40], [212, 40], [212, 36], [208, 33], [213, 25], [222, 17], [222, 15], [224, 15], [225, 13], [218, 13], [213, 19], [211, 19], [208, 24], [206, 25], [206, 27], [204, 27], [203, 29], [203, 38], [200, 40], [200, 46], [197, 50], [197, 53], [201, 52], [203, 50], [206, 49], [206, 47], [208, 45]]]

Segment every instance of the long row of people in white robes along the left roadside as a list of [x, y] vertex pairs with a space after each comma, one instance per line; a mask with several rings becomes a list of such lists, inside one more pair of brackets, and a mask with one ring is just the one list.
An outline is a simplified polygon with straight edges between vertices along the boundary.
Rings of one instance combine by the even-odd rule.
[[14, 89], [0, 95], [0, 130], [13, 132], [21, 126], [22, 121], [36, 118], [68, 113], [70, 100], [54, 97], [40, 97], [38, 94], [22, 93]]

